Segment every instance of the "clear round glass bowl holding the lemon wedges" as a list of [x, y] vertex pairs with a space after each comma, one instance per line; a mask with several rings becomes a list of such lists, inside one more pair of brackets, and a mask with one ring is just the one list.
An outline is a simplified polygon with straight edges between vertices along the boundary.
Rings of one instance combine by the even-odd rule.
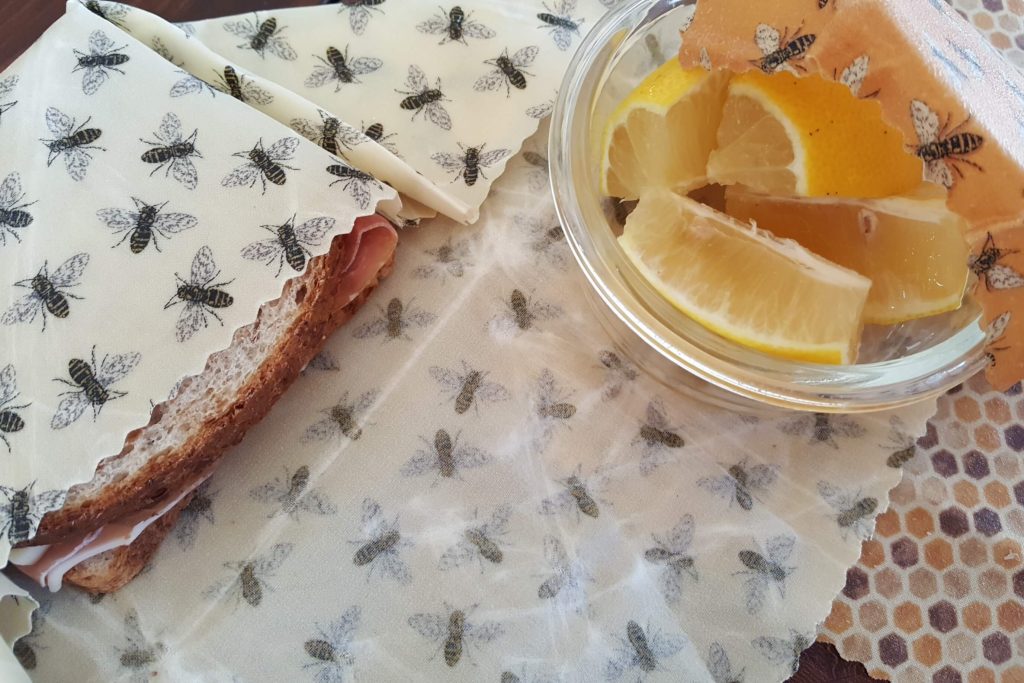
[[[551, 186], [566, 240], [624, 351], [667, 384], [671, 365], [762, 403], [815, 412], [868, 412], [940, 394], [987, 360], [980, 309], [965, 295], [956, 311], [868, 326], [856, 365], [787, 360], [731, 342], [676, 309], [644, 281], [615, 238], [615, 205], [601, 196], [600, 139], [614, 106], [678, 52], [692, 0], [632, 0], [609, 11], [572, 58], [551, 121]], [[610, 311], [612, 315], [607, 313]], [[611, 318], [617, 318], [612, 321]], [[651, 353], [653, 350], [653, 353]], [[710, 388], [710, 387], [709, 387]], [[712, 392], [717, 393], [717, 392]]]

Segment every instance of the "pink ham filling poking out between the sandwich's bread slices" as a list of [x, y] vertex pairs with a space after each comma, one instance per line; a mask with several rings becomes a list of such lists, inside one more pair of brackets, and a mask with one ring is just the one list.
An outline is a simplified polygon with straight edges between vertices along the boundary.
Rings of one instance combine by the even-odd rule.
[[[398, 233], [378, 215], [364, 216], [355, 221], [345, 236], [341, 263], [345, 274], [339, 295], [341, 305], [347, 305], [366, 289], [377, 272], [394, 253]], [[72, 537], [52, 546], [17, 548], [10, 553], [10, 563], [40, 586], [58, 591], [63, 575], [77, 564], [115, 548], [130, 545], [151, 524], [173, 509], [185, 496], [206, 481], [210, 473], [189, 482], [180, 494], [163, 504], [139, 510], [124, 519], [111, 522], [92, 531]]]

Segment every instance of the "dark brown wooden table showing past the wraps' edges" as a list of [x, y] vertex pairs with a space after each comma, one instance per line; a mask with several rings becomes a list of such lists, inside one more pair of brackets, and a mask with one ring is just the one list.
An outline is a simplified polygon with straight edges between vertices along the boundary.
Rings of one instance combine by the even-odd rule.
[[[311, 0], [135, 0], [170, 22], [188, 22], [241, 12], [316, 4]], [[60, 0], [0, 0], [0, 71], [6, 69], [50, 24], [63, 14]], [[864, 666], [843, 659], [836, 648], [815, 643], [800, 658], [790, 683], [870, 683]]]

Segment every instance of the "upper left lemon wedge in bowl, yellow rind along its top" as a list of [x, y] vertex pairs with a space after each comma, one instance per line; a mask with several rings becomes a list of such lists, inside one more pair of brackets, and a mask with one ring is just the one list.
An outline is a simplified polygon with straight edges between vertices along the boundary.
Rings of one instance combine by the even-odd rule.
[[604, 130], [601, 191], [635, 200], [649, 187], [705, 184], [728, 74], [670, 59], [624, 99]]

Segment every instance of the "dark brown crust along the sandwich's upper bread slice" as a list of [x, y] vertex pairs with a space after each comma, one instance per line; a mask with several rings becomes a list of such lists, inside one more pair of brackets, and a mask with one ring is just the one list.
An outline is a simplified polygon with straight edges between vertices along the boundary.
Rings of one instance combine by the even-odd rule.
[[[291, 321], [284, 334], [278, 335], [272, 352], [252, 373], [236, 400], [225, 404], [224, 410], [218, 411], [211, 419], [193, 425], [181, 447], [162, 453], [135, 472], [106, 483], [101, 496], [47, 513], [36, 536], [26, 545], [52, 544], [158, 505], [210, 469], [228, 447], [241, 441], [246, 431], [270, 411], [285, 389], [319, 352], [330, 334], [350, 319], [378, 284], [390, 274], [393, 252], [355, 299], [348, 301], [344, 297], [345, 303], [342, 303], [342, 275], [352, 255], [345, 237], [335, 238], [327, 254], [311, 259], [302, 275], [285, 285], [281, 299], [263, 304], [256, 322], [236, 332], [236, 339], [241, 334], [252, 334], [267, 306], [286, 297], [296, 297], [297, 301], [300, 300], [298, 297], [302, 297], [299, 314]], [[154, 410], [151, 424], [160, 420], [163, 405]], [[130, 452], [141, 431], [137, 429], [128, 434], [121, 454], [101, 461], [97, 465], [97, 473], [108, 463]], [[141, 537], [136, 543], [140, 540]]]

